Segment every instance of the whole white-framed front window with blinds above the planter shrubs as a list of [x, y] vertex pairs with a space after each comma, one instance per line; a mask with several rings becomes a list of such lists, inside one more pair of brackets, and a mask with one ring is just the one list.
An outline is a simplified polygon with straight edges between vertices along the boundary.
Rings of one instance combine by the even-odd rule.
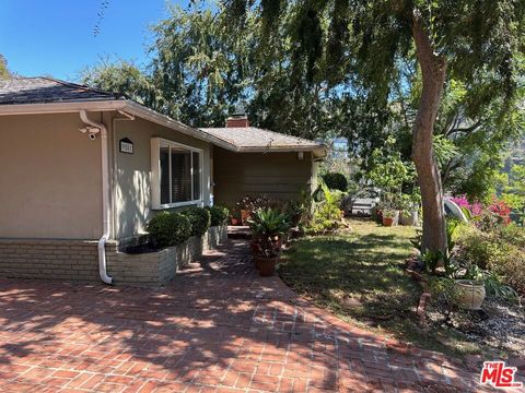
[[153, 209], [202, 200], [202, 151], [161, 138], [151, 140]]

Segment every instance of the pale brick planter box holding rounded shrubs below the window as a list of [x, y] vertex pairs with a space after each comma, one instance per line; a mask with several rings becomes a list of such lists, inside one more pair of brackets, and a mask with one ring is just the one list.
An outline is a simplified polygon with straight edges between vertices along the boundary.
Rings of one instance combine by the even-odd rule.
[[177, 271], [202, 257], [202, 251], [215, 248], [228, 238], [228, 227], [208, 229], [201, 238], [190, 237], [186, 242], [158, 252], [129, 254], [118, 251], [118, 245], [108, 253], [107, 272], [115, 285], [156, 286], [171, 282]]

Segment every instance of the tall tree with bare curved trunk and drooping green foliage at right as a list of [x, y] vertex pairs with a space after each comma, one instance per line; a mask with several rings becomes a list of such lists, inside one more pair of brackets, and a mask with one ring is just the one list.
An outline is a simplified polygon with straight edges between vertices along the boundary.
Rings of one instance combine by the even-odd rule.
[[[296, 48], [292, 67], [306, 82], [352, 83], [387, 106], [399, 60], [413, 57], [421, 92], [412, 128], [412, 158], [423, 206], [423, 249], [444, 250], [441, 174], [433, 134], [443, 90], [459, 81], [480, 105], [499, 103], [501, 117], [515, 99], [524, 56], [525, 3], [521, 0], [223, 0], [242, 31], [248, 10], [262, 21], [261, 50], [287, 26]], [[284, 12], [292, 9], [292, 12]], [[282, 17], [282, 15], [293, 17]], [[483, 81], [480, 85], [480, 81]]]

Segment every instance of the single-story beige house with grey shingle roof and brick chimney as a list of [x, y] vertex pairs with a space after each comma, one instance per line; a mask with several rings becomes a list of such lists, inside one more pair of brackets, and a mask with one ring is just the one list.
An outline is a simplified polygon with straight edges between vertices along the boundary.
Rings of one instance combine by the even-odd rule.
[[155, 212], [296, 198], [325, 154], [243, 117], [195, 129], [83, 85], [0, 81], [0, 276], [112, 283], [118, 246]]

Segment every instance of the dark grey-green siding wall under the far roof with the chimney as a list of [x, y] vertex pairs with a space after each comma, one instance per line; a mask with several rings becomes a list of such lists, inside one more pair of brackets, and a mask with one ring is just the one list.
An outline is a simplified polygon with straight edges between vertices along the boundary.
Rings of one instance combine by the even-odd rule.
[[310, 190], [311, 153], [233, 153], [213, 147], [213, 196], [230, 209], [245, 194], [266, 194], [281, 201], [296, 200]]

